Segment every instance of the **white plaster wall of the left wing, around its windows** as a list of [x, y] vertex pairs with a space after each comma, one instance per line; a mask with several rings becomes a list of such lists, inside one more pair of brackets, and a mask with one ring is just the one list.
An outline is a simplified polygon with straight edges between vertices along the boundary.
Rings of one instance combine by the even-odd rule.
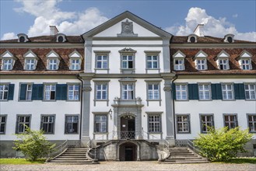
[[[1, 79], [1, 82], [15, 84], [13, 100], [0, 102], [0, 113], [7, 114], [7, 124], [5, 134], [0, 135], [1, 140], [13, 140], [16, 138], [16, 115], [31, 114], [30, 125], [33, 130], [40, 130], [40, 115], [55, 114], [54, 134], [45, 134], [48, 140], [79, 140], [79, 134], [65, 134], [65, 114], [79, 114], [79, 101], [56, 100], [46, 102], [42, 100], [18, 101], [19, 82], [33, 82], [43, 84], [43, 82], [57, 82], [65, 84], [67, 82], [79, 82], [77, 79]], [[80, 121], [80, 120], [79, 120]]]

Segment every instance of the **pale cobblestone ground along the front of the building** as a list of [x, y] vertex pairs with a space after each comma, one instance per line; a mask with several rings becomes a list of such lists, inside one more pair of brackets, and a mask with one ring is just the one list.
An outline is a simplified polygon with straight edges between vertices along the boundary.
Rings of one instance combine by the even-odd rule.
[[223, 164], [223, 163], [204, 163], [204, 164], [158, 164], [157, 162], [100, 162], [97, 165], [2, 165], [0, 170], [232, 170], [232, 171], [256, 171], [254, 164]]

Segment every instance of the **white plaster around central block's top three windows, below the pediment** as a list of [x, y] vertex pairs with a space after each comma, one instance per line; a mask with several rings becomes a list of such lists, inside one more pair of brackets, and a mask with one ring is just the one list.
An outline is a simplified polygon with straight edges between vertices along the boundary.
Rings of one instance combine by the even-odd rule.
[[[109, 73], [120, 74], [121, 73], [121, 58], [118, 51], [124, 47], [93, 47], [93, 51], [110, 51], [109, 54]], [[137, 51], [135, 53], [135, 73], [146, 73], [146, 54], [144, 51], [161, 51], [160, 52], [160, 72], [163, 72], [163, 47], [131, 47]], [[92, 68], [95, 68], [96, 54], [92, 55]], [[99, 70], [98, 70], [99, 71]], [[96, 73], [100, 73], [96, 71]]]

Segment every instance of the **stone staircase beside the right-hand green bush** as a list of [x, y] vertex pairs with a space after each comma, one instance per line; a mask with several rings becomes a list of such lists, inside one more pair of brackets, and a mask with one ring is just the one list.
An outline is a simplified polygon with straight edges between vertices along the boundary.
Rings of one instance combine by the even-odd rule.
[[170, 155], [164, 159], [161, 164], [178, 163], [205, 163], [209, 162], [202, 156], [192, 152], [189, 148], [168, 148]]

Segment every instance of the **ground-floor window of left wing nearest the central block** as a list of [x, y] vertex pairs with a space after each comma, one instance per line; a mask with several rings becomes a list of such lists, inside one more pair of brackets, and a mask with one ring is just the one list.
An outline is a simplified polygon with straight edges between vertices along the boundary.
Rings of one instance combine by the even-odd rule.
[[79, 116], [65, 116], [65, 134], [79, 133]]

